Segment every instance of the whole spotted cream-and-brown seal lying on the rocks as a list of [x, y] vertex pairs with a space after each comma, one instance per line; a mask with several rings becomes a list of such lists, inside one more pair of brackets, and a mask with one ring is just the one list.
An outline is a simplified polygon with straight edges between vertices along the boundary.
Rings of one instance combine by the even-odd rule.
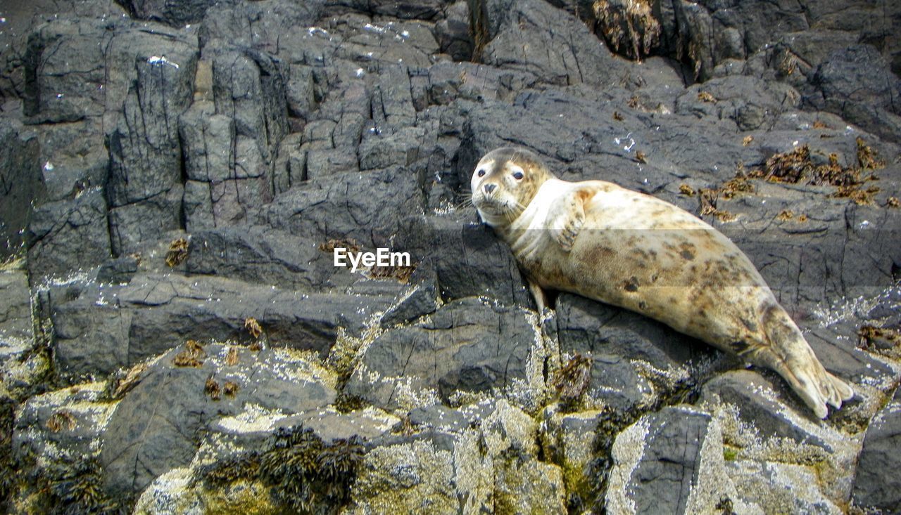
[[515, 147], [485, 155], [470, 185], [540, 312], [554, 289], [650, 316], [775, 370], [819, 418], [854, 395], [816, 359], [751, 260], [684, 209], [612, 182], [561, 181]]

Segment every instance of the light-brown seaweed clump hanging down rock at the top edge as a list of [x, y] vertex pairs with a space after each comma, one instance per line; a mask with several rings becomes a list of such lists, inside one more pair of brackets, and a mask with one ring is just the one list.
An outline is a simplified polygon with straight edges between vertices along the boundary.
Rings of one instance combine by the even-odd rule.
[[597, 0], [592, 4], [596, 31], [619, 52], [635, 60], [651, 54], [660, 43], [660, 23], [649, 0]]

